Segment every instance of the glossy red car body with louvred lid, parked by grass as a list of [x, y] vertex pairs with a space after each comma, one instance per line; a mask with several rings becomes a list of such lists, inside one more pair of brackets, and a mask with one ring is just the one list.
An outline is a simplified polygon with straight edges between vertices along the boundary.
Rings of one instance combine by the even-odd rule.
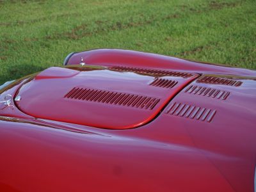
[[0, 191], [255, 191], [256, 71], [72, 53], [0, 90]]

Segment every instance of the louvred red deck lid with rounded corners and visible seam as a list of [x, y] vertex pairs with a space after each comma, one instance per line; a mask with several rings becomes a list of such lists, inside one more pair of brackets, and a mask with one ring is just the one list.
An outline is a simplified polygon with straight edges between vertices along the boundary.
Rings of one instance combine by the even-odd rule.
[[154, 119], [197, 76], [129, 67], [51, 67], [20, 88], [16, 105], [36, 118], [130, 129]]

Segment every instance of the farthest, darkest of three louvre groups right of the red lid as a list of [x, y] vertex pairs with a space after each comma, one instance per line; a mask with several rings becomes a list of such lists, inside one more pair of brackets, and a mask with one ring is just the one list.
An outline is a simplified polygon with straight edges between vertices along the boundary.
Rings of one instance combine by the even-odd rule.
[[210, 83], [210, 84], [225, 84], [229, 86], [241, 86], [243, 82], [221, 78], [221, 77], [211, 77], [211, 76], [204, 76], [201, 79], [198, 79], [196, 82], [198, 83]]

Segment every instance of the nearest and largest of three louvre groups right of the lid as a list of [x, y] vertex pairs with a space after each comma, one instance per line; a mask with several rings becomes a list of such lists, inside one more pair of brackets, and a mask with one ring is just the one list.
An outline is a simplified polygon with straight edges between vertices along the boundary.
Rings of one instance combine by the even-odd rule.
[[166, 109], [165, 113], [173, 116], [201, 120], [202, 122], [211, 122], [216, 115], [216, 110], [173, 102], [170, 107]]

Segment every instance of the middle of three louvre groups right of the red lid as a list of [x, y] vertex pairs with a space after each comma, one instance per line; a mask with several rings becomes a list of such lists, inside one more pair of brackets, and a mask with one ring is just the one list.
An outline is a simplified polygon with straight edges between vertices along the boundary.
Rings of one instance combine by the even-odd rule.
[[196, 85], [189, 86], [189, 88], [185, 90], [185, 93], [202, 95], [202, 96], [212, 97], [215, 99], [223, 99], [223, 100], [226, 100], [230, 95], [230, 92], [226, 92], [226, 91], [218, 90], [214, 88], [205, 88], [203, 86], [196, 86]]

